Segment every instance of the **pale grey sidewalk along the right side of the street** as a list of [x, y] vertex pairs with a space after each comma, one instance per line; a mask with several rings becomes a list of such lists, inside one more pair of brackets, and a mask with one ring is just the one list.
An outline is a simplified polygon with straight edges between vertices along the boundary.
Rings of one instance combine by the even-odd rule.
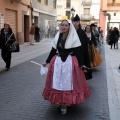
[[110, 49], [105, 43], [109, 113], [111, 120], [120, 120], [120, 43], [119, 49]]

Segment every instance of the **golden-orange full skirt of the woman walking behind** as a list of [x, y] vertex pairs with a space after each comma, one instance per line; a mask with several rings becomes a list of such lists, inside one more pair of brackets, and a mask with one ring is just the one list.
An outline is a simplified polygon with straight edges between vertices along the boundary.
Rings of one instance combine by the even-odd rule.
[[94, 47], [93, 44], [89, 45], [88, 50], [89, 50], [91, 68], [99, 66], [102, 63], [102, 58], [98, 50]]

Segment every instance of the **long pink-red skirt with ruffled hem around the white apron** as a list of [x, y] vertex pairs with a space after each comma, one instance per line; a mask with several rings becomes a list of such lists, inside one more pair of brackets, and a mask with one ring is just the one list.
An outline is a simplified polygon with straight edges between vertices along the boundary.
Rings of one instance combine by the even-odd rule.
[[85, 75], [79, 67], [77, 58], [72, 56], [73, 90], [68, 91], [60, 91], [52, 88], [55, 59], [56, 56], [52, 58], [49, 65], [46, 85], [43, 91], [44, 99], [56, 105], [66, 106], [84, 102], [91, 95], [91, 91], [87, 85]]

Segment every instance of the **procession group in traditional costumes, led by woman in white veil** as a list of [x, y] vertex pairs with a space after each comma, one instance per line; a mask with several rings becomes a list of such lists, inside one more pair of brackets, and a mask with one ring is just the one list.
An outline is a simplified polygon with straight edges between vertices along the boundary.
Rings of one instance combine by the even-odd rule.
[[49, 68], [42, 95], [61, 107], [62, 114], [67, 113], [67, 106], [80, 104], [91, 95], [86, 80], [92, 79], [91, 68], [102, 63], [96, 49], [100, 33], [95, 28], [96, 25], [91, 24], [82, 30], [78, 15], [72, 21], [63, 20], [43, 63], [43, 66], [49, 64]]

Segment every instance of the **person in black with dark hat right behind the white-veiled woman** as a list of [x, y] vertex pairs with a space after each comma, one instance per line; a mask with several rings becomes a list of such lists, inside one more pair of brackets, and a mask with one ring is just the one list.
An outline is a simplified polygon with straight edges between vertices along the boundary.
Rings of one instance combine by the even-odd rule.
[[[91, 68], [89, 53], [88, 53], [88, 43], [89, 43], [89, 41], [87, 39], [87, 35], [85, 34], [85, 32], [80, 27], [80, 17], [78, 15], [76, 15], [72, 19], [72, 21], [73, 21], [73, 25], [74, 25], [74, 27], [77, 31], [80, 42], [82, 44], [81, 51], [83, 53], [83, 59], [84, 59], [85, 66], [88, 67], [88, 68]], [[85, 76], [86, 76], [86, 79], [91, 79], [92, 78], [92, 72], [90, 70], [88, 70], [85, 73]]]

